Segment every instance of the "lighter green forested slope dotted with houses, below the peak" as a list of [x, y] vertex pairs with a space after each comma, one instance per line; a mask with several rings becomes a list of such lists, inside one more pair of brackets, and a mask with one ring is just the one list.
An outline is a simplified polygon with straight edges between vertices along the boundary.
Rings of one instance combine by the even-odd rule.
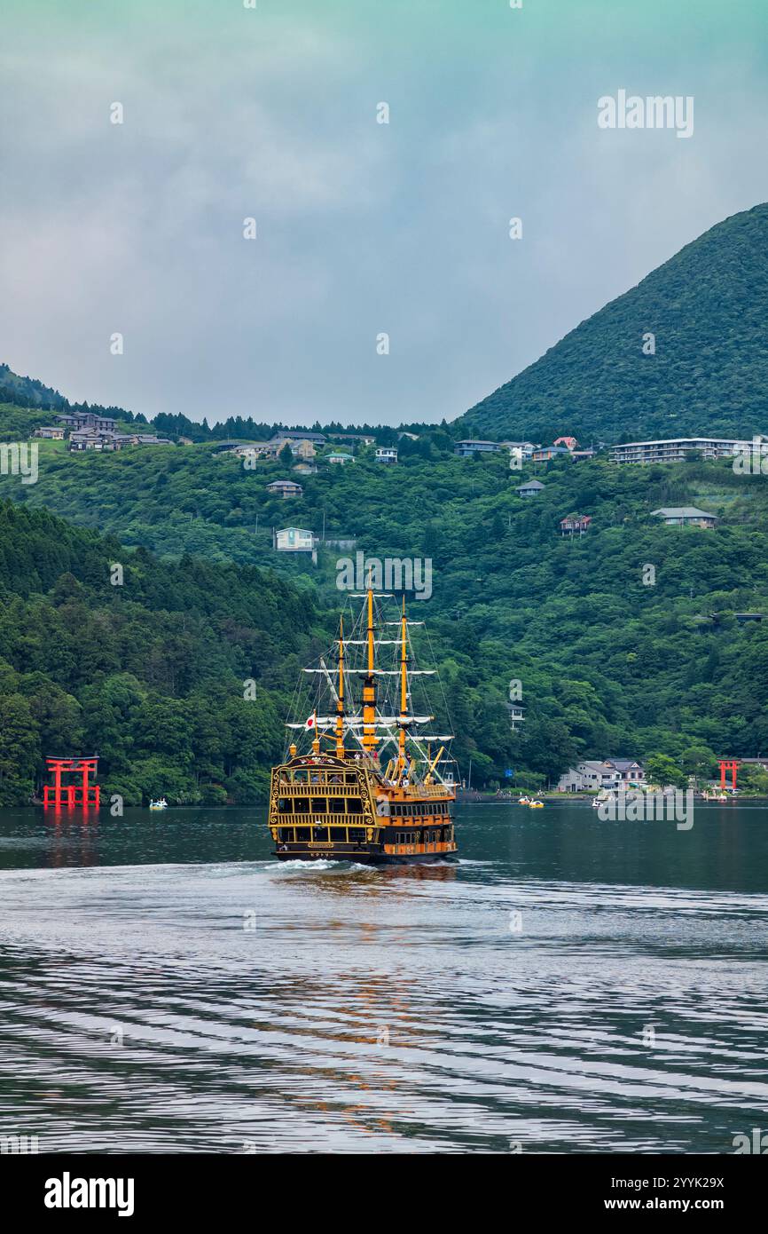
[[[272, 526], [319, 536], [324, 517], [328, 539], [355, 537], [369, 557], [430, 558], [434, 594], [412, 610], [429, 623], [456, 754], [465, 774], [472, 758], [476, 782], [499, 781], [507, 768], [552, 777], [579, 755], [661, 752], [690, 763], [697, 750], [711, 761], [768, 749], [764, 476], [736, 475], [726, 462], [618, 468], [600, 458], [515, 471], [502, 454], [464, 460], [450, 450], [435, 431], [402, 443], [393, 468], [366, 452], [346, 466], [321, 463], [301, 478], [303, 497], [288, 501], [265, 487], [295, 476], [287, 463], [248, 470], [205, 445], [52, 452], [36, 485], [7, 476], [0, 491], [164, 558], [269, 564], [314, 589], [327, 626], [346, 598], [335, 586], [345, 554], [321, 547], [313, 566], [275, 553]], [[544, 492], [520, 497], [530, 475]], [[663, 526], [651, 511], [668, 505], [699, 506], [720, 524]], [[572, 512], [592, 516], [576, 540], [560, 534]], [[746, 611], [766, 621], [742, 624], [733, 613]], [[198, 654], [205, 663], [207, 649]], [[518, 733], [510, 680], [521, 682], [526, 714]]]

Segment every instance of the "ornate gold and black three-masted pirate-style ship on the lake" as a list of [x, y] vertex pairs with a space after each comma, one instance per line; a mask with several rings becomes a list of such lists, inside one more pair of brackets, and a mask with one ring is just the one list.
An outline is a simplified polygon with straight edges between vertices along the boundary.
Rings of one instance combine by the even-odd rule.
[[[293, 716], [307, 717], [311, 702], [308, 718], [286, 726], [296, 738], [271, 775], [275, 855], [369, 865], [451, 859], [451, 734], [420, 732], [434, 727], [429, 703], [413, 713], [414, 694], [427, 697], [415, 679], [436, 675], [414, 666], [411, 627], [423, 622], [408, 619], [404, 601], [398, 619], [385, 621], [378, 601], [391, 596], [369, 590], [357, 598], [365, 602], [349, 638], [339, 622], [335, 663], [321, 656], [304, 669], [316, 689], [298, 690]], [[300, 752], [300, 743], [307, 748]]]

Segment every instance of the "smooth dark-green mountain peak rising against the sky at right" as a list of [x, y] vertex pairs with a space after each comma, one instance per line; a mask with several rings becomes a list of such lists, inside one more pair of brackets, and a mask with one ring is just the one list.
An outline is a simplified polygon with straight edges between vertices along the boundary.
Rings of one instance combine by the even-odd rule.
[[452, 427], [582, 443], [768, 433], [767, 320], [764, 204], [685, 246]]

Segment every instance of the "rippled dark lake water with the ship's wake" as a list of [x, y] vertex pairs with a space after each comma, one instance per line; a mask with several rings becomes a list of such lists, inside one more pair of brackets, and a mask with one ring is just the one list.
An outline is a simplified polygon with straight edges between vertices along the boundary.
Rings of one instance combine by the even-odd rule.
[[768, 1130], [768, 810], [465, 806], [454, 866], [259, 810], [0, 811], [0, 1135], [41, 1151], [732, 1153]]

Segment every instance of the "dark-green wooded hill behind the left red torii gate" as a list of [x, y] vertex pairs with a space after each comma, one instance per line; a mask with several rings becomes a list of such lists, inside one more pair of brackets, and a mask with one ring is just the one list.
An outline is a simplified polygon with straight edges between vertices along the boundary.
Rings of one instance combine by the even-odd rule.
[[0, 805], [28, 801], [52, 753], [97, 753], [127, 805], [258, 800], [316, 624], [272, 575], [0, 502]]

